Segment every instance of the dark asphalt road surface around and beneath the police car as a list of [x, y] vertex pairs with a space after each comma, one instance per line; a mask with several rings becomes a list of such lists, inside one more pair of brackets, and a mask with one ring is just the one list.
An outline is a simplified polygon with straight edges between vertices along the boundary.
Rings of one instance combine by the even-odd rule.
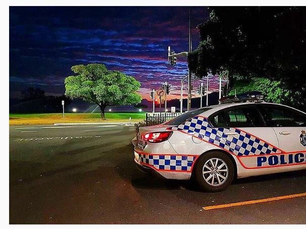
[[202, 207], [306, 192], [306, 171], [239, 179], [204, 193], [134, 165], [134, 127], [10, 127], [10, 223], [306, 223], [306, 197]]

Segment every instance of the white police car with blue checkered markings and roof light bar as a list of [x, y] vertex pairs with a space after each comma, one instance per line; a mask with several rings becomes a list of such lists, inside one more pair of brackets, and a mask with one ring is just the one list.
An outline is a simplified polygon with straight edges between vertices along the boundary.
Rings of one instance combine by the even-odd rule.
[[227, 97], [162, 125], [140, 128], [135, 162], [166, 179], [194, 177], [209, 192], [234, 178], [306, 168], [306, 113], [262, 101]]

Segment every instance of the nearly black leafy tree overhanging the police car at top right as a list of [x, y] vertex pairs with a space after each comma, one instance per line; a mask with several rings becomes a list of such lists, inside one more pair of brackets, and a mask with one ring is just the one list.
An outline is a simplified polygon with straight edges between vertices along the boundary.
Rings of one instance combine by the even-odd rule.
[[[249, 82], [266, 78], [279, 82], [284, 103], [306, 104], [306, 8], [214, 7], [198, 26], [201, 41], [188, 56], [191, 72], [198, 77], [227, 72]], [[277, 92], [278, 93], [278, 92]]]

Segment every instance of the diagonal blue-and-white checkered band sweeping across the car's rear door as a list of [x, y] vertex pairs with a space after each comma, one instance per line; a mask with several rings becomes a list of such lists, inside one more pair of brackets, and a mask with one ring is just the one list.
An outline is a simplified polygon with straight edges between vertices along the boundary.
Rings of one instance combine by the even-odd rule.
[[[199, 133], [206, 142], [224, 148], [237, 156], [272, 154], [279, 151], [263, 140], [236, 128], [212, 128], [206, 118], [199, 116], [169, 129], [186, 132], [187, 134]], [[238, 135], [228, 136], [225, 134], [226, 132], [236, 132]]]

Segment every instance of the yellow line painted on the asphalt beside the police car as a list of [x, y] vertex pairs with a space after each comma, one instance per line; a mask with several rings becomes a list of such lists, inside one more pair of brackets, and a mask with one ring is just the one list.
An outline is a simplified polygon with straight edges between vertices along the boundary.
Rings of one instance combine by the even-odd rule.
[[211, 210], [211, 209], [234, 207], [234, 206], [241, 206], [241, 205], [247, 205], [247, 204], [264, 203], [264, 202], [275, 201], [275, 200], [284, 200], [284, 199], [290, 199], [290, 198], [301, 197], [301, 196], [306, 196], [306, 192], [305, 193], [299, 193], [299, 194], [293, 194], [293, 195], [287, 195], [287, 196], [279, 196], [279, 197], [260, 199], [260, 200], [250, 200], [250, 201], [243, 201], [243, 202], [238, 202], [238, 203], [207, 206], [207, 207], [202, 207], [202, 208], [204, 210]]

